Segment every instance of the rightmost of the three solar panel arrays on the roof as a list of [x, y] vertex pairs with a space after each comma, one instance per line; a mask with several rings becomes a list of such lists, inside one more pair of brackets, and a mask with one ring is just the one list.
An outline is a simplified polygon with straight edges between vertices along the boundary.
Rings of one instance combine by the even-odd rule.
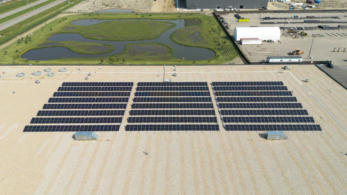
[[213, 82], [212, 86], [228, 131], [322, 130], [283, 82]]

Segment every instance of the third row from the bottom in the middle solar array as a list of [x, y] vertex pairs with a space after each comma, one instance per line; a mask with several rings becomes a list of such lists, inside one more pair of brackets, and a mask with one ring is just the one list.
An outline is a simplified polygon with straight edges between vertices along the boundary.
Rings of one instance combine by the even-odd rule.
[[130, 110], [130, 116], [145, 115], [215, 115], [214, 110]]

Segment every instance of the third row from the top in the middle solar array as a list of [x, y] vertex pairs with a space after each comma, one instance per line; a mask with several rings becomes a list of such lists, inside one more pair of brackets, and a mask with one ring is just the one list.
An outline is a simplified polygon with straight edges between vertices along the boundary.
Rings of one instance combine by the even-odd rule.
[[135, 92], [135, 96], [210, 96], [208, 91], [188, 92]]

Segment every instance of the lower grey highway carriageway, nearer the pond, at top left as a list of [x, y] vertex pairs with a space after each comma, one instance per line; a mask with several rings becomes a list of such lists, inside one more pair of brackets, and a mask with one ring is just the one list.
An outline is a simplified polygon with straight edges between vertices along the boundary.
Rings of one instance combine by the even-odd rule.
[[57, 1], [54, 1], [52, 3], [49, 3], [48, 5], [45, 5], [45, 6], [42, 6], [38, 9], [35, 9], [34, 11], [30, 11], [28, 12], [27, 14], [23, 14], [22, 16], [18, 16], [16, 18], [13, 18], [11, 20], [8, 20], [7, 22], [4, 22], [2, 24], [0, 24], [0, 31], [2, 31], [3, 29], [6, 29], [12, 25], [15, 25], [19, 22], [22, 22], [23, 20], [27, 19], [27, 18], [30, 18], [30, 17], [33, 17], [35, 16], [36, 14], [40, 14], [42, 11], [45, 11], [49, 8], [52, 8], [56, 5], [58, 5], [59, 3], [62, 3], [64, 1], [67, 1], [67, 0], [57, 0]]

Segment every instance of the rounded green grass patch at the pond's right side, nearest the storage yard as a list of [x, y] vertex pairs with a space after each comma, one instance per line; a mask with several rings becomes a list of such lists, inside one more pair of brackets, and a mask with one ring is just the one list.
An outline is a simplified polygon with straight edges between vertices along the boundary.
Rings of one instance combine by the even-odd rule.
[[209, 32], [204, 28], [202, 23], [178, 29], [171, 34], [170, 38], [178, 44], [213, 50], [213, 44]]

